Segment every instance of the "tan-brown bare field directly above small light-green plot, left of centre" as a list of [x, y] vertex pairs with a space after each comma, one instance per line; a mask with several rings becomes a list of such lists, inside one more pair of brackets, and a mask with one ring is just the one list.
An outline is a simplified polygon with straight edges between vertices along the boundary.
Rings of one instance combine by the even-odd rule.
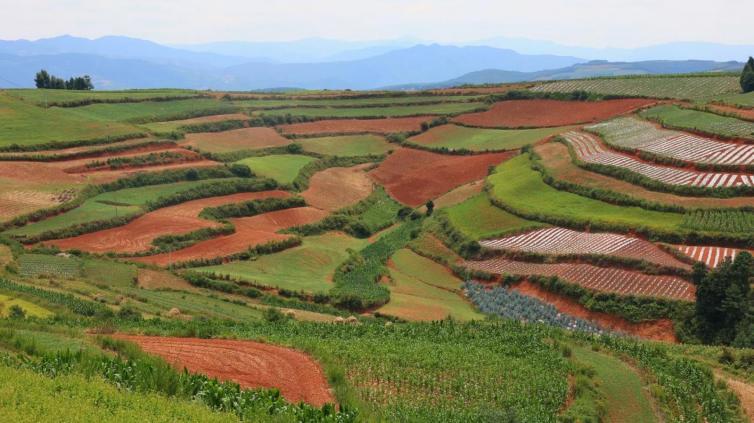
[[190, 146], [210, 153], [226, 153], [238, 150], [256, 150], [287, 145], [290, 141], [272, 128], [243, 128], [224, 132], [188, 134], [183, 146]]

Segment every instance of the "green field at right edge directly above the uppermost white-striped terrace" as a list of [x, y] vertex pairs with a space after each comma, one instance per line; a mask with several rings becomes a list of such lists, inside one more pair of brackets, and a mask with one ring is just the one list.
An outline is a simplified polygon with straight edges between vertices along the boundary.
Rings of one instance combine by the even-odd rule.
[[656, 120], [670, 128], [696, 130], [724, 137], [754, 140], [754, 122], [714, 113], [666, 105], [645, 110], [640, 115], [643, 118]]

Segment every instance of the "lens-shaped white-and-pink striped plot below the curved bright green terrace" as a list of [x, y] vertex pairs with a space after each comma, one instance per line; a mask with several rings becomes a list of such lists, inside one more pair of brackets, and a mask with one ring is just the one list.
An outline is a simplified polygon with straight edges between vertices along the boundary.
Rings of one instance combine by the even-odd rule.
[[565, 228], [545, 228], [520, 235], [479, 242], [496, 250], [539, 254], [600, 254], [646, 260], [662, 266], [688, 267], [651, 242], [611, 233], [587, 233]]

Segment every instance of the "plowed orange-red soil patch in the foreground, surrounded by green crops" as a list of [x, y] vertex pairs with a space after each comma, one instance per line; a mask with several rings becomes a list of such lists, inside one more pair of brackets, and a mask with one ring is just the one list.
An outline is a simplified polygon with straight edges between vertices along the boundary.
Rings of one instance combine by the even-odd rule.
[[115, 335], [178, 369], [188, 369], [242, 388], [277, 388], [289, 402], [316, 407], [335, 403], [319, 364], [290, 348], [252, 341]]

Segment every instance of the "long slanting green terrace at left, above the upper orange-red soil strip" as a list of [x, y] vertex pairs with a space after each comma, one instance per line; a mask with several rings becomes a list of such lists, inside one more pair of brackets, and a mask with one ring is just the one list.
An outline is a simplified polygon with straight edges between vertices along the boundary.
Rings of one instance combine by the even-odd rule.
[[116, 217], [133, 216], [144, 210], [143, 206], [160, 197], [209, 184], [214, 179], [185, 181], [172, 184], [150, 185], [106, 192], [87, 199], [73, 210], [14, 228], [6, 233], [13, 236], [35, 236], [44, 232], [68, 228], [84, 223], [110, 220]]

